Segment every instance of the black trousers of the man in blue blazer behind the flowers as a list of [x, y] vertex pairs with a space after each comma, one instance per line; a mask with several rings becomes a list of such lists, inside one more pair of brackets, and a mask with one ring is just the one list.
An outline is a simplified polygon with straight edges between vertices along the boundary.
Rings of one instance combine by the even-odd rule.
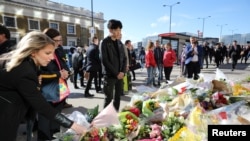
[[200, 64], [199, 62], [190, 62], [186, 65], [187, 67], [187, 73], [188, 78], [193, 78], [194, 80], [197, 80], [199, 78], [200, 73]]

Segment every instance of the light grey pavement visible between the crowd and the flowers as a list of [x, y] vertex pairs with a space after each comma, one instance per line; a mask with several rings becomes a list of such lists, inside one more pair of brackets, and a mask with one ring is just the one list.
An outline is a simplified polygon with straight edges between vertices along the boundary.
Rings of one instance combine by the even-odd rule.
[[[225, 76], [229, 80], [233, 81], [241, 81], [245, 80], [247, 77], [250, 77], [250, 64], [237, 64], [236, 69], [234, 71], [231, 70], [231, 63], [229, 64], [222, 64], [219, 69], [225, 74]], [[216, 67], [215, 64], [209, 64], [208, 68], [204, 68], [201, 70], [201, 73], [207, 77], [215, 77]], [[138, 69], [135, 71], [136, 73], [136, 80], [132, 81], [132, 90], [126, 93], [124, 96], [121, 96], [121, 104], [120, 110], [126, 106], [129, 102], [133, 94], [137, 93], [137, 89], [139, 86], [144, 85], [146, 83], [146, 69]], [[171, 80], [174, 80], [180, 75], [180, 66], [175, 65], [173, 67], [173, 71], [171, 73]], [[86, 83], [86, 82], [85, 82]], [[103, 109], [104, 104], [104, 94], [103, 93], [96, 93], [94, 89], [94, 85], [92, 85], [92, 89], [90, 90], [91, 94], [94, 94], [92, 98], [85, 98], [84, 97], [84, 87], [80, 89], [75, 89], [73, 83], [70, 81], [68, 82], [71, 94], [67, 99], [67, 102], [72, 104], [72, 108], [63, 109], [64, 114], [71, 114], [73, 111], [79, 111], [81, 113], [85, 113], [87, 109], [94, 108], [95, 106], [99, 105], [99, 111]], [[78, 82], [79, 84], [79, 82]], [[80, 85], [80, 84], [79, 84]], [[157, 89], [157, 88], [155, 88]], [[18, 132], [17, 141], [26, 141], [26, 136], [23, 135], [25, 132], [26, 124], [21, 124]], [[33, 141], [36, 141], [36, 133], [34, 132]]]

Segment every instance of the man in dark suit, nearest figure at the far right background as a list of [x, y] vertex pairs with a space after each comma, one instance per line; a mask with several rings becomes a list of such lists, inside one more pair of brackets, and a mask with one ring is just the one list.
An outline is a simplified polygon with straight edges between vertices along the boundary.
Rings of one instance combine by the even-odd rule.
[[229, 50], [229, 57], [232, 59], [232, 71], [234, 71], [237, 65], [238, 59], [240, 59], [241, 47], [237, 44], [237, 41], [233, 41], [233, 45]]

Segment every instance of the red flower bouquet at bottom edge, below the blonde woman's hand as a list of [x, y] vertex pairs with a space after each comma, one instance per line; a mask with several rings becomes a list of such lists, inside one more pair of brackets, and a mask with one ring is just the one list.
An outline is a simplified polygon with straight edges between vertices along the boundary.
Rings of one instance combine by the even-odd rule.
[[91, 128], [80, 141], [109, 141], [107, 128]]

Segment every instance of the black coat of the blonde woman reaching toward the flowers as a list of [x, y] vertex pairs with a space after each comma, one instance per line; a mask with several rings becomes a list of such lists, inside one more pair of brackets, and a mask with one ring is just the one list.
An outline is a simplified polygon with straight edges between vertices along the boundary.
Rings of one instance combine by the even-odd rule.
[[1, 140], [16, 140], [19, 124], [30, 108], [64, 127], [71, 127], [73, 122], [49, 105], [38, 86], [38, 67], [30, 58], [10, 72], [0, 69]]

